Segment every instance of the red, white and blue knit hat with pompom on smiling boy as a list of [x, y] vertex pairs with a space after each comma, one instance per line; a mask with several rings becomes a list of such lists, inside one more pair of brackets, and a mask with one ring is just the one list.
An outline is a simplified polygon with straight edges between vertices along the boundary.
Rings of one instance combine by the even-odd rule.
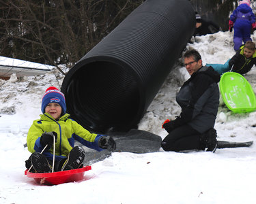
[[46, 105], [48, 105], [49, 103], [59, 103], [62, 109], [61, 113], [66, 114], [67, 107], [66, 107], [65, 96], [63, 95], [62, 92], [59, 91], [59, 89], [57, 89], [54, 86], [47, 88], [44, 93], [44, 97], [42, 97], [41, 110], [43, 114], [45, 113]]

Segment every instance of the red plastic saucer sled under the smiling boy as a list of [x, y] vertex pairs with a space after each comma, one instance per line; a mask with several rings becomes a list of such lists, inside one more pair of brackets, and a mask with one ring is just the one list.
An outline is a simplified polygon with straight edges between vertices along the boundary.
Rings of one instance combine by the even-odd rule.
[[53, 173], [31, 173], [26, 170], [25, 175], [27, 175], [27, 177], [33, 177], [35, 182], [40, 185], [52, 186], [68, 182], [79, 182], [83, 180], [85, 171], [89, 170], [91, 170], [91, 166]]

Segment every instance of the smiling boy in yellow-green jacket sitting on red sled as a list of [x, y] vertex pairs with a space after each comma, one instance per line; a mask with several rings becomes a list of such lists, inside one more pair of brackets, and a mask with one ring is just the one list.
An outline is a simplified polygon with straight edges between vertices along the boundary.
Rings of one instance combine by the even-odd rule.
[[[88, 148], [101, 151], [115, 150], [112, 137], [92, 134], [80, 124], [69, 118], [66, 101], [62, 92], [51, 86], [42, 98], [42, 115], [34, 120], [27, 134], [27, 147], [33, 153], [25, 162], [30, 171], [51, 172], [53, 167], [53, 141], [55, 140], [55, 171], [77, 169], [83, 166], [85, 151], [81, 146], [74, 147], [79, 141]], [[46, 147], [44, 152], [42, 150]], [[40, 154], [42, 152], [42, 154]]]

